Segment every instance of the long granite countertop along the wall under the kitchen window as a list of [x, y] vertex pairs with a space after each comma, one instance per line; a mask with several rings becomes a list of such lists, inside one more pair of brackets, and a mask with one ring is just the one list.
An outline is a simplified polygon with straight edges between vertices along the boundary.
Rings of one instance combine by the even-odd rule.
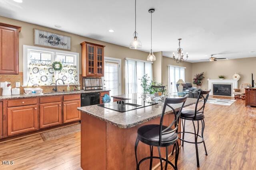
[[108, 92], [110, 90], [80, 90], [80, 91], [72, 91], [72, 92], [49, 92], [44, 94], [19, 94], [19, 95], [11, 95], [11, 96], [0, 96], [0, 100], [6, 99], [19, 99], [19, 98], [36, 98], [43, 96], [59, 96], [59, 95], [69, 95], [69, 94], [84, 94], [84, 93], [94, 93], [94, 92]]

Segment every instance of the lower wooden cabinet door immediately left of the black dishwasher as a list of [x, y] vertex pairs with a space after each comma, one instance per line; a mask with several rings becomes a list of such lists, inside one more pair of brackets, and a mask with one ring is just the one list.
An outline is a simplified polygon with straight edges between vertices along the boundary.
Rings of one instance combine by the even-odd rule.
[[77, 107], [80, 106], [80, 100], [63, 102], [63, 123], [80, 120], [81, 113], [77, 110]]

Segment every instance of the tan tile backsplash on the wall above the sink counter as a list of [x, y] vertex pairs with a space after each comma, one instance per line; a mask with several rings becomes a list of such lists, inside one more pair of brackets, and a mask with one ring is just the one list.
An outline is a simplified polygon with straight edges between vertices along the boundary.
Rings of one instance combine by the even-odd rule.
[[[79, 81], [82, 84], [82, 74], [79, 75]], [[15, 83], [20, 82], [20, 94], [24, 93], [23, 85], [23, 72], [19, 72], [18, 75], [0, 75], [0, 82], [10, 82], [12, 88], [15, 88]], [[52, 88], [54, 86], [38, 86], [38, 88], [43, 89], [43, 93], [52, 92]], [[72, 90], [74, 86], [70, 86], [70, 90]], [[82, 85], [80, 86], [82, 88]], [[67, 86], [58, 86], [58, 91], [67, 90]], [[0, 88], [0, 95], [2, 95], [2, 88]]]

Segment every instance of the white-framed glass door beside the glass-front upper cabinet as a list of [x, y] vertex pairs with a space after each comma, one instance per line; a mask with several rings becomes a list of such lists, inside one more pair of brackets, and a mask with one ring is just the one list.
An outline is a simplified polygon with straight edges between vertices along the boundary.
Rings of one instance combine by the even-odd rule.
[[120, 64], [118, 59], [104, 60], [103, 88], [110, 91], [110, 96], [121, 94]]

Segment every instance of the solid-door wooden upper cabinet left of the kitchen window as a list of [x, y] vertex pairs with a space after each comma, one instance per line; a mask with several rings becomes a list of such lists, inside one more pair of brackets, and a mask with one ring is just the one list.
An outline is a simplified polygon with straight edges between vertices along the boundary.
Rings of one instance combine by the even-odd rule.
[[21, 27], [0, 23], [0, 74], [19, 74]]

